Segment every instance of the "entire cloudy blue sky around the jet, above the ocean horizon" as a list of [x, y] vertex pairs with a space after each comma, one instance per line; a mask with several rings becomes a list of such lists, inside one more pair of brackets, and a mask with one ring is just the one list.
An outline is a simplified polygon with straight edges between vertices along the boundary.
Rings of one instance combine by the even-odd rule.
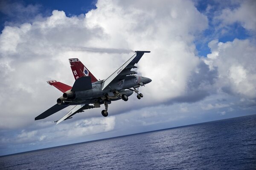
[[[0, 155], [232, 118], [256, 112], [253, 0], [1, 1]], [[180, 10], [183, 9], [183, 10]], [[90, 109], [55, 125], [40, 121], [74, 83], [68, 58], [105, 79], [148, 50], [139, 75], [152, 82], [116, 101], [103, 118]]]

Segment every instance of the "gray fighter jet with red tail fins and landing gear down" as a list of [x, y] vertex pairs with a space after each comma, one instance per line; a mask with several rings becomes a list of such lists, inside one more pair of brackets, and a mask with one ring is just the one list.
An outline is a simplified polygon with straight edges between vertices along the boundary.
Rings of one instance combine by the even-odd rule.
[[75, 83], [71, 87], [59, 81], [47, 81], [48, 84], [63, 92], [63, 95], [57, 99], [57, 104], [35, 117], [35, 120], [47, 118], [70, 105], [75, 105], [75, 107], [54, 122], [59, 124], [61, 121], [72, 118], [76, 113], [84, 112], [85, 109], [98, 108], [101, 104], [105, 105], [105, 109], [101, 113], [106, 117], [108, 116], [108, 104], [111, 104], [111, 101], [120, 99], [128, 101], [128, 96], [133, 92], [137, 94], [138, 99], [142, 98], [143, 94], [139, 93], [138, 89], [140, 86], [150, 83], [151, 79], [137, 76], [135, 75], [137, 72], [131, 71], [131, 69], [137, 68], [135, 64], [140, 61], [144, 53], [149, 51], [135, 52], [128, 61], [105, 80], [97, 80], [78, 58], [69, 59]]

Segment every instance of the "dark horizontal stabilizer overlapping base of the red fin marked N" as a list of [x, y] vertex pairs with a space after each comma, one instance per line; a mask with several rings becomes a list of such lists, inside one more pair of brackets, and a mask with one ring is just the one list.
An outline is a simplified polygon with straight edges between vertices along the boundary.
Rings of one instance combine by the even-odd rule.
[[83, 76], [81, 78], [76, 79], [71, 92], [83, 91], [92, 89], [91, 77], [90, 76]]

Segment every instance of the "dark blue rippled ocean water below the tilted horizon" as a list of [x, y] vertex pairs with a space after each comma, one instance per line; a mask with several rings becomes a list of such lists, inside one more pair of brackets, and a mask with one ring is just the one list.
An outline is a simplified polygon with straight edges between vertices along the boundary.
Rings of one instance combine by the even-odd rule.
[[0, 157], [0, 169], [256, 169], [256, 115]]

